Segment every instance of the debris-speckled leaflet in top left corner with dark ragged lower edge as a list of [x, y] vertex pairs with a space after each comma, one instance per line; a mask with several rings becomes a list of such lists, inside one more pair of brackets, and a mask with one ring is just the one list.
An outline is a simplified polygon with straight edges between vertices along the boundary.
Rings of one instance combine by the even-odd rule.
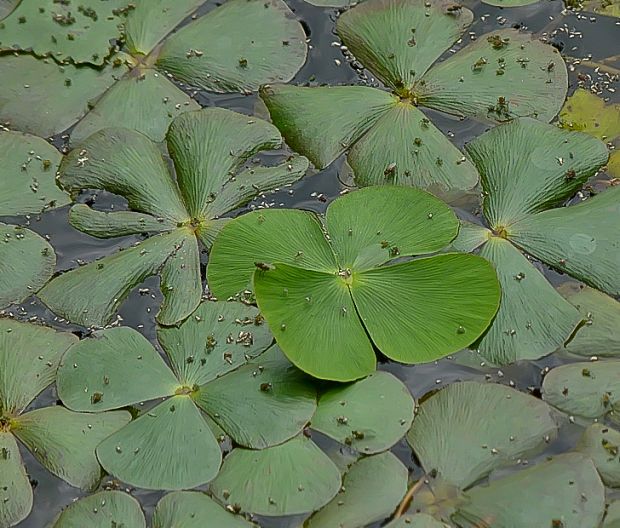
[[0, 49], [30, 51], [59, 62], [102, 65], [122, 37], [127, 0], [21, 2], [0, 26]]

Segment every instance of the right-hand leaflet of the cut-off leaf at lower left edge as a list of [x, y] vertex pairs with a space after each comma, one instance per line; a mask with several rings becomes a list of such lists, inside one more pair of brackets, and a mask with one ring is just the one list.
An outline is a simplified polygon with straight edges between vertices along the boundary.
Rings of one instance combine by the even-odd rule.
[[45, 407], [17, 417], [12, 431], [51, 473], [92, 490], [101, 480], [95, 448], [130, 420], [126, 411], [91, 415]]

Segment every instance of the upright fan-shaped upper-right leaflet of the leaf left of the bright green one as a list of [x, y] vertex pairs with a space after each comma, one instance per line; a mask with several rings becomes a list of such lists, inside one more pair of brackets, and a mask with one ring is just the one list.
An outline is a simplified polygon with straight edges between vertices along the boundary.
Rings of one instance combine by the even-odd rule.
[[206, 215], [209, 204], [248, 158], [282, 143], [272, 124], [223, 108], [180, 116], [166, 139], [181, 194], [193, 218]]

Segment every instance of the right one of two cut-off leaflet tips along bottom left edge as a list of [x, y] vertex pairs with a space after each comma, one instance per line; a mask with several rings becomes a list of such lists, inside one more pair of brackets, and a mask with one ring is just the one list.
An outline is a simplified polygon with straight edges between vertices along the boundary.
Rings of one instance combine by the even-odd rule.
[[217, 528], [256, 526], [227, 512], [217, 502], [197, 491], [168, 493], [157, 503], [153, 513], [153, 528], [204, 528], [210, 525]]

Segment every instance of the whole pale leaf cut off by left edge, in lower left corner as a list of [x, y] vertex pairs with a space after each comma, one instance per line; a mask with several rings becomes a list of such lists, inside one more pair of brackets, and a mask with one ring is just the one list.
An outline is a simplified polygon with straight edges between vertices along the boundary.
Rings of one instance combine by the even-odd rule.
[[116, 411], [95, 417], [63, 407], [24, 412], [56, 375], [73, 334], [0, 319], [0, 525], [14, 526], [32, 508], [32, 488], [23, 467], [19, 439], [50, 472], [73, 486], [96, 487], [101, 468], [97, 445], [130, 420]]

